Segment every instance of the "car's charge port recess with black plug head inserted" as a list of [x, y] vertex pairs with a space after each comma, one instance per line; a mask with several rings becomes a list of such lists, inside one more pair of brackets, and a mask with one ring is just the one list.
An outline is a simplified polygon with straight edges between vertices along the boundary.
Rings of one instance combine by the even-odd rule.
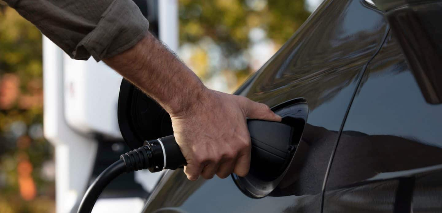
[[305, 152], [305, 147], [299, 147], [299, 143], [309, 112], [307, 102], [302, 98], [294, 99], [272, 110], [282, 117], [281, 123], [248, 120], [252, 140], [250, 171], [245, 177], [232, 174], [236, 186], [251, 198], [271, 194], [289, 168], [297, 169], [294, 157]]

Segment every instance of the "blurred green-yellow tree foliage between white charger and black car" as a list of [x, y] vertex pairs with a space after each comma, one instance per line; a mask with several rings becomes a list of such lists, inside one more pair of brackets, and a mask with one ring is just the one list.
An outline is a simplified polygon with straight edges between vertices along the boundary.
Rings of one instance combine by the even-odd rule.
[[[255, 71], [251, 57], [244, 54], [254, 45], [250, 33], [262, 30], [274, 43], [273, 52], [279, 49], [310, 15], [303, 0], [179, 0], [180, 43], [196, 45], [193, 56], [185, 60], [203, 80], [219, 72], [235, 73], [239, 78]], [[209, 41], [209, 42], [207, 42]], [[215, 45], [221, 52], [221, 65], [211, 66], [208, 48]], [[247, 53], [247, 52], [246, 52]], [[182, 52], [182, 57], [188, 52]], [[238, 59], [244, 58], [242, 66]], [[270, 54], [272, 55], [272, 53]], [[241, 63], [241, 61], [239, 62]]]

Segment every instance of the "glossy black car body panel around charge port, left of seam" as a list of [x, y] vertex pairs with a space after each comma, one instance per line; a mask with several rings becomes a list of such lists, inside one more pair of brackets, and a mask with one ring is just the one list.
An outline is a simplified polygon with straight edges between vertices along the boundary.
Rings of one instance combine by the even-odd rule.
[[328, 161], [351, 97], [387, 32], [383, 15], [360, 0], [324, 1], [236, 92], [271, 108], [308, 102], [296, 166], [261, 199], [241, 193], [229, 178], [190, 182], [182, 170], [168, 171], [144, 212], [320, 212]]

